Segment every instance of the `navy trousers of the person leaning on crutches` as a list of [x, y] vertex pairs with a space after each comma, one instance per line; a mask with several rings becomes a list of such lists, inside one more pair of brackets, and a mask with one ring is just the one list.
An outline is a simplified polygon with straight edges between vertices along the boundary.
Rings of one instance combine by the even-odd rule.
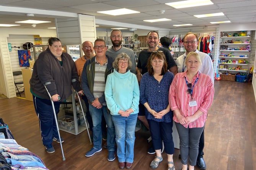
[[[52, 138], [59, 137], [59, 134], [57, 131], [51, 100], [33, 96], [33, 101], [36, 115], [39, 119], [42, 142], [44, 145], [52, 144]], [[58, 113], [60, 111], [60, 103], [61, 102], [54, 102], [56, 117], [58, 117]]]

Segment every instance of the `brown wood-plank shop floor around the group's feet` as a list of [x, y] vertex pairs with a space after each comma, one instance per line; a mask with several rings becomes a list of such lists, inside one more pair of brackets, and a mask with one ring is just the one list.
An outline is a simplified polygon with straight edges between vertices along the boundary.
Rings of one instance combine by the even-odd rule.
[[[256, 104], [251, 83], [215, 81], [215, 97], [205, 125], [204, 159], [207, 170], [256, 170]], [[90, 145], [87, 132], [73, 135], [60, 131], [65, 161], [60, 144], [53, 143], [55, 153], [48, 154], [41, 141], [38, 118], [33, 102], [11, 98], [0, 99], [0, 117], [8, 124], [18, 144], [42, 158], [50, 170], [117, 170], [118, 160], [109, 162], [108, 151], [85, 157]], [[148, 170], [155, 155], [147, 154], [147, 132], [135, 133], [134, 164], [132, 170]], [[174, 164], [181, 169], [175, 149]], [[163, 154], [159, 170], [167, 170], [167, 156]], [[197, 168], [195, 168], [197, 169]]]

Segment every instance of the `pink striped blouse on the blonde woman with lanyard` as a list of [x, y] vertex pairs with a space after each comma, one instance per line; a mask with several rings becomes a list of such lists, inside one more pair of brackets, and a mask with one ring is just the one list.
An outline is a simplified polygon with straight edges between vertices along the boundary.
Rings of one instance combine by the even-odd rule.
[[[196, 78], [199, 78], [192, 93], [192, 97], [196, 100], [197, 106], [189, 106], [191, 95], [187, 92], [188, 86], [184, 77], [186, 77], [188, 83], [192, 83], [192, 86], [195, 84]], [[169, 104], [171, 110], [179, 109], [181, 115], [184, 117], [193, 115], [198, 109], [203, 112], [201, 117], [189, 123], [189, 128], [201, 128], [204, 126], [207, 118], [207, 110], [212, 105], [213, 98], [214, 86], [210, 76], [198, 72], [192, 79], [192, 82], [187, 78], [187, 71], [178, 73], [174, 76], [169, 91]], [[179, 123], [175, 114], [173, 114], [173, 120]]]

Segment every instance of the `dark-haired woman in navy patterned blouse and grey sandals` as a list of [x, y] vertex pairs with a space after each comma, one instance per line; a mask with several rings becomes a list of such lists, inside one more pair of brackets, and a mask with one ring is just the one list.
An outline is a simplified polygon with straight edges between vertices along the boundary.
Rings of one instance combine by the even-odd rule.
[[150, 127], [155, 159], [150, 167], [155, 169], [163, 160], [162, 140], [167, 154], [168, 170], [175, 170], [173, 164], [174, 143], [172, 137], [173, 112], [168, 102], [168, 94], [174, 75], [167, 69], [165, 54], [153, 52], [148, 58], [148, 72], [140, 81], [140, 103], [145, 106], [145, 114]]

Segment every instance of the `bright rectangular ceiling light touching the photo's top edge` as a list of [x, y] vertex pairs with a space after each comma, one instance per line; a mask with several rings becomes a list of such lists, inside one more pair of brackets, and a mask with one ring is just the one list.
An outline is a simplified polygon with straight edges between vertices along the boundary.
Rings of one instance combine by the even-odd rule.
[[188, 8], [193, 6], [212, 5], [214, 3], [212, 3], [210, 0], [186, 0], [186, 1], [165, 3], [165, 4], [170, 5], [173, 8]]

